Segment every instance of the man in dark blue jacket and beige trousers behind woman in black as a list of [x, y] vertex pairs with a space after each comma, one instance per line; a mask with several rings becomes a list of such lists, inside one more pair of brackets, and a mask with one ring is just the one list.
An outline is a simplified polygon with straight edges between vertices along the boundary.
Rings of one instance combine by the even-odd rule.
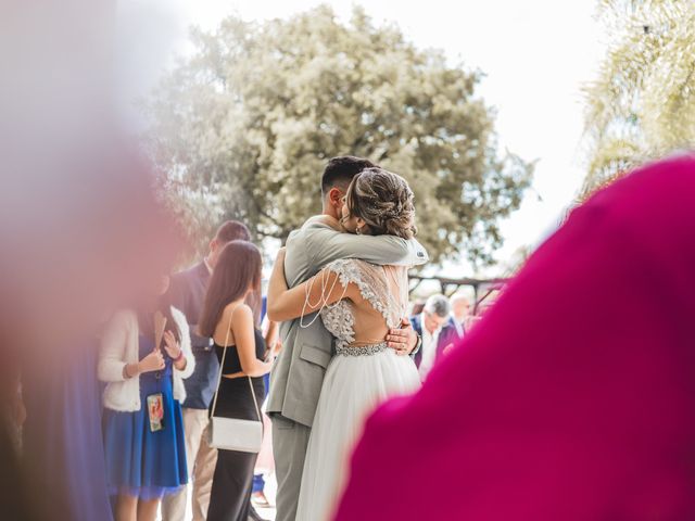
[[[251, 240], [249, 229], [239, 221], [224, 223], [210, 241], [210, 252], [200, 263], [172, 276], [169, 296], [172, 304], [186, 315], [191, 332], [191, 346], [195, 356], [195, 371], [185, 380], [186, 401], [181, 404], [186, 430], [186, 459], [193, 482], [193, 520], [204, 520], [207, 514], [210, 491], [217, 462], [217, 450], [207, 445], [207, 407], [215, 394], [219, 364], [212, 339], [198, 334], [198, 320], [203, 309], [207, 283], [217, 264], [219, 253], [227, 243]], [[189, 480], [190, 482], [190, 480]], [[188, 491], [182, 487], [162, 501], [164, 521], [184, 521]]]

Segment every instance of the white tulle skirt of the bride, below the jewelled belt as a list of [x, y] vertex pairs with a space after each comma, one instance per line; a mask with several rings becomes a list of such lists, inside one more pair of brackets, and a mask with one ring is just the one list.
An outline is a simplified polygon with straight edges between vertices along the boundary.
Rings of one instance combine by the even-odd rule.
[[412, 393], [419, 385], [413, 359], [390, 348], [374, 355], [333, 357], [312, 427], [296, 521], [331, 519], [367, 417], [386, 399]]

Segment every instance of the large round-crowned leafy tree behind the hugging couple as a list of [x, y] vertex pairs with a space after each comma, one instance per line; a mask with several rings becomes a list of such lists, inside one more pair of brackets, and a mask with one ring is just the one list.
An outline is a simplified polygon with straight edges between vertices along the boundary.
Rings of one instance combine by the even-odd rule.
[[361, 9], [349, 23], [327, 7], [264, 23], [230, 16], [193, 38], [149, 105], [159, 162], [190, 207], [285, 239], [320, 209], [327, 160], [354, 154], [408, 180], [434, 260], [462, 250], [488, 260], [500, 245], [498, 221], [532, 168], [498, 153], [480, 73]]

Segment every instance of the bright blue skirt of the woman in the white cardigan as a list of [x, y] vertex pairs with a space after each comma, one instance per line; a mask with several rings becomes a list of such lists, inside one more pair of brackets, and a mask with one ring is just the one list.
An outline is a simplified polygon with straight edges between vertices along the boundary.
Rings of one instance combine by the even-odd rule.
[[[152, 432], [147, 397], [162, 393], [164, 429]], [[156, 378], [140, 374], [141, 408], [135, 412], [106, 409], [104, 446], [106, 476], [112, 495], [129, 495], [144, 500], [162, 498], [188, 482], [181, 407], [174, 399], [170, 366]]]

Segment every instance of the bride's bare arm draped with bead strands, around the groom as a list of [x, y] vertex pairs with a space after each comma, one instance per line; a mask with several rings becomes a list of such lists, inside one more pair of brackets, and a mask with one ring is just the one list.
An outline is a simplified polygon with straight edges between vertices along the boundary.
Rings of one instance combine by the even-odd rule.
[[350, 298], [355, 291], [353, 283], [348, 287], [341, 284], [338, 274], [329, 268], [289, 289], [285, 280], [285, 249], [281, 249], [268, 282], [268, 319], [280, 322], [303, 317], [342, 298]]

